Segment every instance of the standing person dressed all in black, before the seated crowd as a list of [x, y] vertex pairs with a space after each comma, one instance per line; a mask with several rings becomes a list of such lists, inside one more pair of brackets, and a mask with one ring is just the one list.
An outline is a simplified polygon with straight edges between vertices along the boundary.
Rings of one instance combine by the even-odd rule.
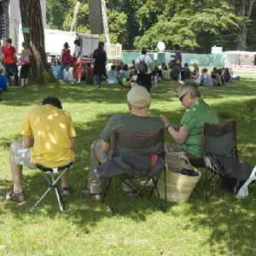
[[107, 53], [104, 49], [105, 44], [99, 42], [98, 49], [95, 49], [93, 53], [94, 62], [94, 74], [96, 79], [96, 88], [102, 86], [102, 74], [106, 73], [106, 61]]

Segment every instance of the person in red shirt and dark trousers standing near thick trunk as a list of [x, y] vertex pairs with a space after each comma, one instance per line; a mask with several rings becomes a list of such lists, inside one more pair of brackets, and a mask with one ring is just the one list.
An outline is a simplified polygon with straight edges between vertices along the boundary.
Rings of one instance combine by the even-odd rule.
[[12, 46], [12, 39], [7, 39], [7, 45], [2, 49], [2, 63], [4, 63], [6, 78], [11, 84], [10, 71], [12, 70], [15, 74], [15, 85], [19, 85], [18, 68], [16, 65], [16, 49]]

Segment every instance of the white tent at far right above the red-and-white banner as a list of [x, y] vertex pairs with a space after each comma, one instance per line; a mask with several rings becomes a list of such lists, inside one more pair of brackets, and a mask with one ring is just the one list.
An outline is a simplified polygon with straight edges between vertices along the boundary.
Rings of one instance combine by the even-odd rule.
[[231, 68], [232, 65], [248, 65], [254, 66], [256, 52], [252, 51], [241, 51], [241, 50], [230, 50], [224, 53], [224, 67]]

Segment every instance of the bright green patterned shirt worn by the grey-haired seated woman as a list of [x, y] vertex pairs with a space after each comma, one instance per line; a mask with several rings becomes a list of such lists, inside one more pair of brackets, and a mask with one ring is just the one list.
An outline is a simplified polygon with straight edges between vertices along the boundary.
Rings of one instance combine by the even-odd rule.
[[189, 132], [189, 135], [179, 148], [200, 157], [203, 154], [201, 133], [205, 123], [218, 125], [218, 115], [206, 102], [199, 99], [183, 114], [181, 126]]

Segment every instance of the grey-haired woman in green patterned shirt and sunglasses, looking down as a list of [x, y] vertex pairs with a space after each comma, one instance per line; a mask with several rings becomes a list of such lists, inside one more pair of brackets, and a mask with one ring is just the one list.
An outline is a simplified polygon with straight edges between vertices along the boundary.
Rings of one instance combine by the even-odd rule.
[[201, 157], [203, 154], [201, 133], [205, 123], [218, 125], [218, 115], [201, 99], [201, 90], [197, 84], [185, 82], [177, 89], [177, 96], [186, 108], [180, 127], [172, 125], [166, 117], [161, 116], [172, 138], [175, 152], [185, 151], [189, 159]]

